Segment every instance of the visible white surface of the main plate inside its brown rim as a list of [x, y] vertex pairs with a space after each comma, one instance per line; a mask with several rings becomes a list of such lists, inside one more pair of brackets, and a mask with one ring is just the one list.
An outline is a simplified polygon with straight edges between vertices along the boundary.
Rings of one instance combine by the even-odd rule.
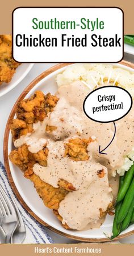
[[[117, 64], [116, 66], [120, 66], [120, 67], [123, 67], [124, 69], [134, 71], [130, 67], [125, 67], [124, 65]], [[57, 91], [55, 75], [61, 72], [62, 70], [64, 70], [65, 68], [66, 67], [62, 69], [58, 69], [57, 71], [43, 78], [40, 82], [38, 82], [32, 88], [32, 90], [27, 94], [27, 97], [30, 97], [36, 90], [41, 90], [45, 94], [48, 92], [54, 94]], [[12, 149], [14, 149], [14, 147], [12, 145], [12, 136], [10, 133], [9, 142], [8, 142], [9, 154]], [[99, 229], [86, 230], [86, 231], [72, 231], [72, 230], [64, 229], [64, 227], [61, 226], [58, 219], [52, 213], [52, 210], [44, 206], [44, 203], [39, 198], [39, 195], [36, 193], [36, 190], [34, 189], [32, 182], [24, 178], [23, 173], [18, 169], [18, 167], [14, 166], [10, 161], [9, 161], [9, 165], [10, 165], [11, 175], [14, 180], [15, 186], [18, 189], [24, 202], [26, 202], [26, 204], [30, 207], [33, 213], [35, 213], [37, 217], [42, 219], [45, 223], [47, 223], [48, 225], [52, 226], [56, 230], [61, 231], [66, 235], [72, 235], [76, 239], [77, 238], [79, 239], [79, 237], [81, 239], [84, 239], [84, 238], [85, 239], [102, 239], [102, 238], [106, 238], [103, 232], [108, 234], [111, 233], [114, 217], [110, 215], [107, 215], [106, 220], [104, 221], [103, 225]], [[133, 229], [134, 229], [134, 225], [128, 227], [128, 229], [125, 230], [122, 234], [132, 231]]]

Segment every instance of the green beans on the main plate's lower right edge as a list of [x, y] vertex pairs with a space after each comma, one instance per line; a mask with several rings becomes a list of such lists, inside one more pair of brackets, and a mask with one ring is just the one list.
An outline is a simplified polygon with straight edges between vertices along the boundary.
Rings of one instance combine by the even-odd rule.
[[115, 218], [112, 227], [112, 239], [132, 225], [134, 219], [134, 165], [120, 176], [118, 197], [115, 206]]

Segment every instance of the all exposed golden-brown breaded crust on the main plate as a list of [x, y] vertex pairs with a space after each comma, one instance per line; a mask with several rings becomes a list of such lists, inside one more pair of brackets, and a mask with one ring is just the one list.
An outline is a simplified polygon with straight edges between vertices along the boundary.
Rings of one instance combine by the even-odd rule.
[[[42, 122], [44, 118], [47, 117], [47, 114], [53, 111], [57, 101], [58, 98], [56, 96], [51, 94], [44, 95], [41, 91], [36, 91], [30, 99], [20, 101], [16, 109], [17, 118], [13, 119], [10, 124], [13, 141], [20, 138], [22, 135], [32, 133], [33, 123], [38, 121]], [[47, 133], [51, 133], [51, 131], [55, 129], [55, 126], [47, 126], [46, 131]], [[68, 142], [63, 142], [65, 147], [64, 157], [68, 157], [73, 161], [89, 160], [87, 146], [91, 141], [91, 138], [81, 139], [76, 137], [69, 139]], [[37, 153], [31, 153], [28, 150], [28, 146], [23, 144], [19, 146], [18, 149], [12, 150], [9, 158], [12, 163], [23, 171], [24, 177], [33, 182], [45, 206], [53, 209], [53, 213], [62, 223], [62, 217], [58, 213], [58, 207], [65, 196], [75, 191], [76, 188], [72, 183], [64, 179], [58, 181], [58, 187], [53, 187], [42, 181], [39, 176], [33, 173], [33, 165], [35, 165], [35, 163], [39, 163], [41, 166], [47, 166], [48, 153], [47, 143], [44, 145], [43, 149], [39, 150]], [[100, 171], [98, 175], [100, 178], [103, 177], [103, 171]], [[109, 207], [107, 211], [108, 210]], [[102, 209], [100, 209], [100, 218], [104, 217], [107, 211], [103, 212]], [[70, 229], [70, 227], [64, 223], [62, 226], [64, 226], [65, 229]]]

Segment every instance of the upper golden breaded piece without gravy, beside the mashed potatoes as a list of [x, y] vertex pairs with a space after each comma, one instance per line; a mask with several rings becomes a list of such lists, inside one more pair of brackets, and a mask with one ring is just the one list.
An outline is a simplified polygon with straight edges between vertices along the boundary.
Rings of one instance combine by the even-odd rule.
[[30, 99], [23, 99], [16, 108], [16, 119], [12, 119], [10, 129], [12, 140], [20, 138], [22, 135], [32, 133], [33, 123], [43, 121], [49, 112], [53, 111], [58, 98], [48, 93], [44, 95], [42, 91], [36, 91]]

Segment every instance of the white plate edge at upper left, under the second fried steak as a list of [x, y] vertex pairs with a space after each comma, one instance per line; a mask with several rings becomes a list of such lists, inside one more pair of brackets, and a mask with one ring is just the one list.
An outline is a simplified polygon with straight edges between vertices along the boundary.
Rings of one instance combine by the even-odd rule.
[[10, 83], [2, 83], [0, 85], [0, 97], [11, 91], [15, 86], [18, 85], [22, 81], [24, 77], [30, 72], [32, 69], [33, 63], [22, 63], [19, 67], [17, 67]]

